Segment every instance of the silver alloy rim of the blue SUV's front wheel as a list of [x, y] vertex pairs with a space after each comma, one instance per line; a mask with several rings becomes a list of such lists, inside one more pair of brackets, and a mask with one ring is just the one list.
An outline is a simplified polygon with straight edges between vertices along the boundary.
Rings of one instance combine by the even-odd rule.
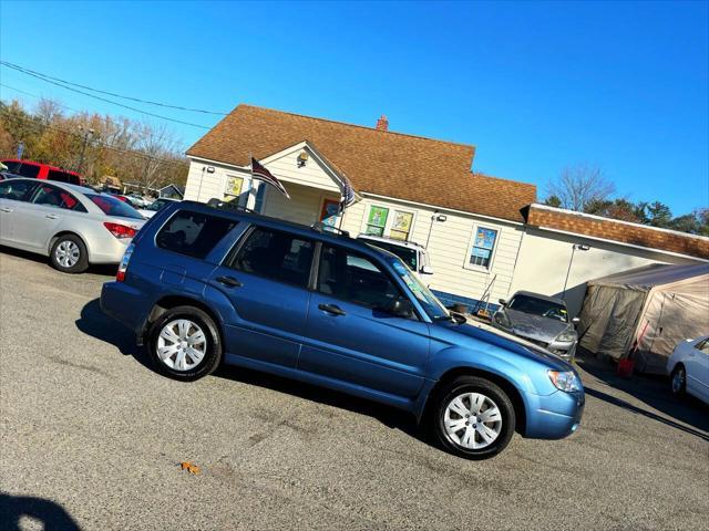
[[492, 398], [482, 393], [454, 397], [443, 413], [448, 438], [456, 446], [480, 450], [492, 445], [502, 431], [502, 414]]

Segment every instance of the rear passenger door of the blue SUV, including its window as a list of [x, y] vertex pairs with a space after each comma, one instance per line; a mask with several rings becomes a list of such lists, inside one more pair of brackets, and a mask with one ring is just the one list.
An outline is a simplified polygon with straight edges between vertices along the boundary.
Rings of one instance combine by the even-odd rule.
[[296, 367], [310, 299], [312, 250], [307, 238], [256, 227], [212, 273], [209, 284], [229, 299], [237, 315], [225, 323], [227, 352]]

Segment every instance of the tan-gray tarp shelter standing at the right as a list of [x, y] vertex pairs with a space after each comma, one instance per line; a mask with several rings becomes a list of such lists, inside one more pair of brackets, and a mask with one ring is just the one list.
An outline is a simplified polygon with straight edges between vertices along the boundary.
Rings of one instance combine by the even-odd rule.
[[588, 282], [580, 345], [662, 374], [680, 341], [709, 333], [709, 264], [653, 264]]

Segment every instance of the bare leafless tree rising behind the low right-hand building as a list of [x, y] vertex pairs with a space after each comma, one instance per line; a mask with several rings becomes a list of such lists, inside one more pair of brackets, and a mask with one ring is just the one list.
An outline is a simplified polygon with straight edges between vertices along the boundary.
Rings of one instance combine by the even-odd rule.
[[567, 166], [546, 185], [547, 204], [583, 211], [589, 204], [604, 201], [616, 191], [597, 166]]

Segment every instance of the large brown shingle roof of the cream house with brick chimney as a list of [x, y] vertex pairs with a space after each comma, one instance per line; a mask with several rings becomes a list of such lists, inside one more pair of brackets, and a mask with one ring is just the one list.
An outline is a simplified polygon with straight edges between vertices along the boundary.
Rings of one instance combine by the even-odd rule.
[[472, 174], [475, 147], [239, 105], [187, 150], [236, 166], [308, 140], [358, 191], [523, 221], [536, 187]]

